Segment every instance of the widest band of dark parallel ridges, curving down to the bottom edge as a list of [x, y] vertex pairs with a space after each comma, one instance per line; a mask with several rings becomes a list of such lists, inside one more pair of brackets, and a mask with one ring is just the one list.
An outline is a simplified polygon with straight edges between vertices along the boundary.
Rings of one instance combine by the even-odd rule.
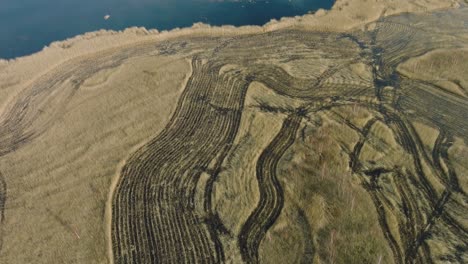
[[234, 140], [247, 83], [197, 58], [192, 71], [166, 129], [122, 169], [112, 214], [117, 263], [223, 261], [209, 221], [195, 212], [195, 189]]

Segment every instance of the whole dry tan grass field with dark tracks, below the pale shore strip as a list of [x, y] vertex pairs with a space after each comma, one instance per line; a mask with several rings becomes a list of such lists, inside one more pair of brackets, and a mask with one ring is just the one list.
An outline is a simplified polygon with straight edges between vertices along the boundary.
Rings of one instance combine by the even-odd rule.
[[466, 21], [188, 34], [0, 74], [0, 263], [468, 263]]

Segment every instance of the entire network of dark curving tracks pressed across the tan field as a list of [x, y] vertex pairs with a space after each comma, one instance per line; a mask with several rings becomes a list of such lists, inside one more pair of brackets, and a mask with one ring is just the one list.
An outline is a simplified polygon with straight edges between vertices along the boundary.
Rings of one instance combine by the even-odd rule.
[[[463, 175], [457, 175], [448, 154], [455, 137], [466, 139], [468, 135], [468, 104], [466, 99], [444, 93], [431, 83], [401, 75], [397, 66], [436, 48], [461, 44], [450, 35], [431, 35], [425, 28], [429, 22], [407, 26], [397, 20], [382, 18], [370, 31], [343, 34], [293, 30], [232, 38], [182, 37], [66, 63], [25, 87], [7, 105], [0, 116], [0, 156], [45, 133], [63, 114], [81, 83], [94, 72], [156, 51], [159, 56], [185, 54], [192, 58], [192, 72], [170, 121], [162, 132], [132, 153], [119, 172], [111, 199], [110, 240], [115, 263], [225, 262], [220, 236], [230, 230], [214, 207], [213, 186], [225, 157], [235, 147], [252, 82], [264, 84], [275, 96], [300, 99], [304, 105], [299, 109], [291, 107], [292, 112], [268, 103], [258, 106], [261, 111], [287, 117], [256, 161], [260, 198], [235, 238], [244, 262], [259, 262], [261, 242], [281, 215], [285, 197], [277, 166], [294, 143], [301, 122], [307, 115], [332, 112], [335, 107], [348, 104], [361, 106], [372, 114], [362, 127], [346, 119], [339, 122], [359, 137], [347, 153], [349, 170], [372, 200], [394, 262], [436, 262], [438, 259], [434, 259], [427, 243], [431, 235], [450, 233], [454, 239], [446, 244], [452, 248], [468, 239], [468, 227], [456, 214], [467, 209], [455, 197], [466, 199], [459, 181]], [[283, 46], [288, 46], [288, 50]], [[193, 55], [192, 50], [202, 51]], [[334, 61], [306, 77], [297, 77], [275, 65], [298, 59], [313, 61], [317, 51]], [[346, 72], [355, 63], [370, 67], [372, 79]], [[235, 67], [222, 71], [226, 65]], [[59, 87], [60, 96], [54, 93]], [[45, 106], [47, 111], [43, 112]], [[413, 121], [438, 128], [432, 151], [424, 146]], [[409, 157], [408, 168], [369, 165], [361, 160], [364, 145], [373, 142], [371, 137], [375, 135], [371, 135], [371, 130], [377, 122], [391, 131], [398, 147]], [[209, 178], [202, 190], [200, 212], [196, 210], [195, 194], [202, 173]], [[430, 174], [435, 176], [430, 178]], [[391, 179], [387, 188], [393, 193], [382, 188], [382, 175]], [[443, 186], [442, 191], [434, 186], [434, 178]], [[0, 228], [7, 200], [6, 182], [0, 173]], [[396, 197], [395, 201], [391, 201], [392, 197]], [[302, 222], [307, 220], [304, 208], [297, 210]], [[389, 215], [396, 219], [396, 230], [390, 227]], [[312, 234], [304, 236], [309, 244], [304, 246], [304, 260], [310, 260], [315, 254]], [[455, 259], [458, 253], [451, 254], [449, 257]]]

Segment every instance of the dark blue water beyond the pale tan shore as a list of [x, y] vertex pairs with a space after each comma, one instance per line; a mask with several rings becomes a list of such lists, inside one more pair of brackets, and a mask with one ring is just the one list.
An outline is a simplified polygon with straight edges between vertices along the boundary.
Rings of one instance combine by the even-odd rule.
[[[263, 25], [270, 19], [330, 9], [334, 0], [0, 0], [0, 58], [40, 51], [52, 41], [99, 29], [159, 30]], [[108, 20], [105, 15], [110, 15]]]

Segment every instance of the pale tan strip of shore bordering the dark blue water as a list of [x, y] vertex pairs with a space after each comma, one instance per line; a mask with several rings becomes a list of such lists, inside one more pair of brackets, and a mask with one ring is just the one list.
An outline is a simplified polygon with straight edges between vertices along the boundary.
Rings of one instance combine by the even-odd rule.
[[[42, 51], [12, 60], [0, 59], [0, 110], [5, 98], [37, 76], [69, 59], [108, 49], [135, 45], [145, 41], [162, 41], [187, 35], [244, 35], [270, 32], [288, 27], [310, 31], [347, 31], [363, 27], [382, 16], [402, 12], [427, 12], [457, 7], [460, 0], [337, 0], [329, 11], [320, 9], [314, 14], [272, 20], [264, 26], [210, 26], [196, 23], [190, 28], [170, 31], [132, 27], [123, 31], [100, 30], [57, 41]], [[7, 89], [8, 88], [8, 89]]]

